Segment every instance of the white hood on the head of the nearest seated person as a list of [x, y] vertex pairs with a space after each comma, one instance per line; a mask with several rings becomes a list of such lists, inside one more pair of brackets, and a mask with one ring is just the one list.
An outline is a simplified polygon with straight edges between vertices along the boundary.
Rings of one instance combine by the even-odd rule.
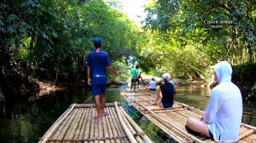
[[213, 67], [216, 72], [218, 83], [231, 81], [232, 67], [228, 61], [220, 61], [218, 64], [211, 67]]

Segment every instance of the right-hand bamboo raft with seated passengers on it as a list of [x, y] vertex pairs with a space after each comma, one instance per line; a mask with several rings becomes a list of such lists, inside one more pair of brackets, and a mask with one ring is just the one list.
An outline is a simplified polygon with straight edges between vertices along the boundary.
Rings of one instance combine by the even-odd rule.
[[[155, 95], [140, 91], [133, 93], [131, 91], [122, 91], [121, 94], [126, 100], [130, 101], [132, 106], [137, 108], [145, 117], [162, 129], [166, 134], [170, 135], [177, 142], [207, 142], [214, 143], [214, 140], [207, 139], [203, 136], [195, 136], [189, 134], [184, 128], [188, 117], [200, 119], [204, 116], [204, 112], [197, 110], [191, 106], [175, 102], [171, 108], [160, 108], [152, 106]], [[245, 123], [241, 123], [239, 142], [252, 143], [256, 142], [256, 128]]]

